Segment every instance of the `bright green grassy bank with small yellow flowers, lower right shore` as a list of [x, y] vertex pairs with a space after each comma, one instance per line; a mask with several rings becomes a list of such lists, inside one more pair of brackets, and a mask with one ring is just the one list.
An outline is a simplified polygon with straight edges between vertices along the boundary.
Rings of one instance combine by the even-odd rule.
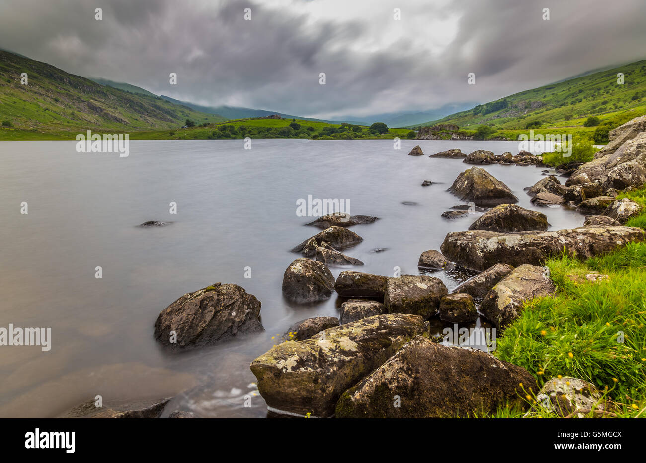
[[[621, 197], [646, 207], [646, 189]], [[645, 228], [643, 211], [627, 225]], [[557, 375], [587, 380], [618, 405], [618, 417], [646, 418], [646, 243], [630, 243], [587, 262], [555, 258], [547, 266], [556, 293], [525, 304], [498, 340], [495, 355], [525, 367], [541, 385]], [[592, 272], [609, 278], [588, 282], [585, 274]], [[501, 409], [495, 416], [522, 413]]]

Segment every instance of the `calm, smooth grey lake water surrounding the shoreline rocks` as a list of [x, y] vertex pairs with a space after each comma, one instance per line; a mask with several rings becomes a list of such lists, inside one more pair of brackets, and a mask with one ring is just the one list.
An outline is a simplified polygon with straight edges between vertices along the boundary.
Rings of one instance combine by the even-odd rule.
[[[418, 143], [426, 156], [407, 156]], [[360, 271], [391, 275], [397, 266], [417, 274], [421, 252], [439, 249], [447, 232], [479, 216], [441, 218], [460, 203], [446, 189], [470, 166], [427, 156], [455, 147], [518, 151], [513, 141], [412, 140], [393, 150], [379, 140], [258, 140], [243, 147], [238, 140], [134, 141], [120, 158], [78, 153], [67, 141], [0, 143], [0, 327], [52, 328], [48, 352], [0, 347], [0, 417], [54, 417], [96, 395], [106, 403], [175, 396], [171, 411], [265, 417], [257, 392], [244, 407], [255, 391], [249, 363], [293, 322], [338, 316], [340, 304], [335, 295], [315, 305], [282, 297], [282, 274], [298, 257], [288, 250], [319, 231], [296, 215], [298, 198], [347, 198], [352, 214], [379, 216], [352, 228], [364, 241], [346, 253], [366, 264]], [[485, 168], [519, 205], [536, 209], [523, 188], [542, 169]], [[437, 183], [421, 187], [423, 180]], [[28, 214], [20, 213], [22, 201]], [[171, 201], [178, 214], [169, 214]], [[540, 210], [552, 229], [583, 223], [576, 212]], [[146, 220], [174, 223], [135, 226]], [[252, 278], [244, 277], [247, 266]], [[449, 289], [460, 280], [435, 276]], [[214, 282], [255, 294], [266, 332], [163, 351], [152, 336], [158, 313]]]

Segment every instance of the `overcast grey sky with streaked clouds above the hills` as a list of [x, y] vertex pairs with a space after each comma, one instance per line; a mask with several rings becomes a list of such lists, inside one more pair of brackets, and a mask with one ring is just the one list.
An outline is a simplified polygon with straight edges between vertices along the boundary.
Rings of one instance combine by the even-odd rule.
[[645, 44], [646, 0], [0, 1], [0, 48], [198, 104], [318, 118], [484, 103], [638, 61]]

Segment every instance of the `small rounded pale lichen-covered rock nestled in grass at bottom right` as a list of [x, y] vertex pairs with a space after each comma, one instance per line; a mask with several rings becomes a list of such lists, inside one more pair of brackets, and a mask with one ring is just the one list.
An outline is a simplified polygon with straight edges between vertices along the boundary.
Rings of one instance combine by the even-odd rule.
[[545, 382], [536, 396], [536, 403], [561, 417], [581, 411], [579, 418], [583, 418], [590, 410], [605, 410], [605, 401], [594, 384], [571, 376]]

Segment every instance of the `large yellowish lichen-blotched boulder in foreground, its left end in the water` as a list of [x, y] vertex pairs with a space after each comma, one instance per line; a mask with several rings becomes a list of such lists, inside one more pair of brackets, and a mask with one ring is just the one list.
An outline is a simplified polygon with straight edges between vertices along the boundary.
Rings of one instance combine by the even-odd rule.
[[329, 417], [344, 391], [425, 330], [421, 316], [371, 316], [275, 345], [251, 363], [251, 371], [271, 411]]

